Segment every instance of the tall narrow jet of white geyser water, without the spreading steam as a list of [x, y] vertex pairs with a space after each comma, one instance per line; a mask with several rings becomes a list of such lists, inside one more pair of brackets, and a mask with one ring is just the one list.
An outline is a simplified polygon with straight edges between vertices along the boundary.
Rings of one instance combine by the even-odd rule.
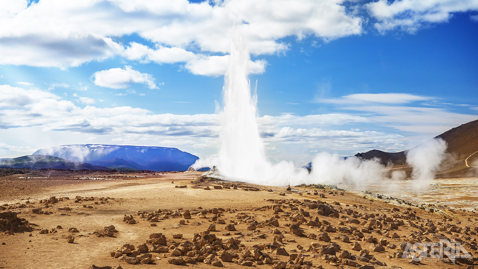
[[250, 92], [250, 56], [245, 39], [234, 28], [230, 43], [223, 86], [224, 109], [219, 115], [221, 148], [217, 170], [226, 179], [257, 179], [269, 163], [256, 122], [257, 97]]

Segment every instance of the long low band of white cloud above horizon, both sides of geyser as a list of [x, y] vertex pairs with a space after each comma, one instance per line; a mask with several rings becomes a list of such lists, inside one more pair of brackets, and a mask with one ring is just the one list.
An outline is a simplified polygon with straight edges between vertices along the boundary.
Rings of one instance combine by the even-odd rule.
[[[45, 141], [54, 143], [51, 146], [85, 143], [85, 137], [91, 136], [104, 144], [179, 145], [182, 150], [200, 151], [205, 155], [215, 152], [219, 147], [220, 126], [216, 114], [155, 114], [146, 109], [118, 107], [115, 104], [109, 108], [99, 108], [92, 105], [94, 99], [73, 94], [74, 101], [87, 104], [82, 108], [76, 102], [65, 100], [47, 90], [27, 90], [10, 85], [0, 85], [0, 96], [0, 135], [14, 139], [19, 134], [33, 132], [44, 136], [35, 140], [34, 143], [38, 145], [27, 144], [31, 147], [45, 147], [42, 144]], [[373, 126], [396, 128], [416, 135], [436, 135], [476, 119], [476, 115], [449, 112], [444, 108], [375, 102], [364, 105], [362, 100], [354, 100], [359, 104], [340, 104], [340, 109], [354, 111], [358, 115], [329, 113], [259, 117], [258, 124], [265, 145], [271, 149], [275, 147], [269, 156], [290, 158], [290, 152], [294, 150], [302, 151], [297, 152], [297, 156], [310, 153], [310, 150], [328, 150], [345, 155], [374, 148], [401, 151], [407, 149], [404, 136], [393, 131], [364, 128], [373, 123]], [[360, 128], [351, 128], [354, 124], [359, 124]], [[25, 145], [23, 142], [3, 143]], [[288, 156], [281, 156], [282, 152], [287, 152]]]

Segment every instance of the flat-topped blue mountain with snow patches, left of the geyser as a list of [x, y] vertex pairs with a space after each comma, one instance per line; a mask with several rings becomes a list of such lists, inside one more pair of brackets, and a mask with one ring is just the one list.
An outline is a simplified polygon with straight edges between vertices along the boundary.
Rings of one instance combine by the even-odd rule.
[[198, 157], [173, 147], [119, 145], [65, 145], [39, 149], [33, 155], [51, 155], [110, 168], [185, 171]]

